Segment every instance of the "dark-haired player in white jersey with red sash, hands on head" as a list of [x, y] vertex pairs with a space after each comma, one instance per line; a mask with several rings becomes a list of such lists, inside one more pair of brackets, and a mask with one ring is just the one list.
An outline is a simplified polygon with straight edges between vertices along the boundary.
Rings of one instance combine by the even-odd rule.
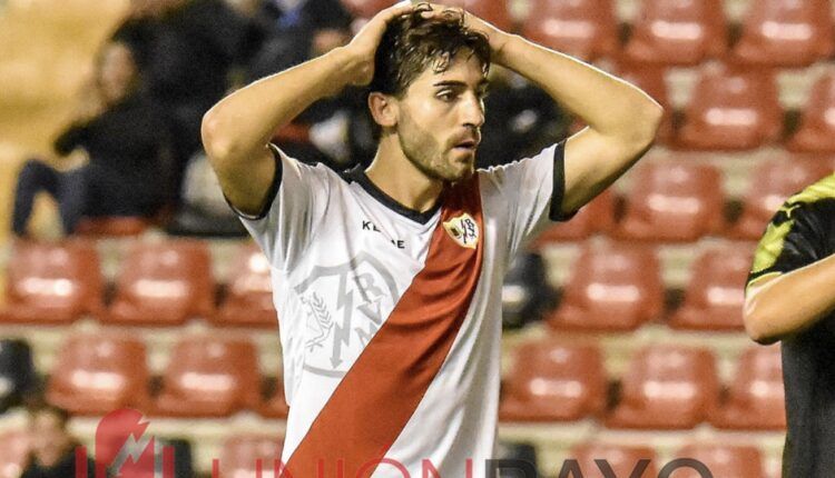
[[[588, 128], [474, 170], [491, 61]], [[380, 128], [366, 170], [337, 175], [267, 145], [347, 84], [370, 84]], [[383, 10], [347, 46], [208, 111], [208, 156], [272, 263], [292, 476], [484, 476], [504, 270], [549, 219], [570, 217], [623, 173], [660, 118], [623, 81], [430, 4]]]

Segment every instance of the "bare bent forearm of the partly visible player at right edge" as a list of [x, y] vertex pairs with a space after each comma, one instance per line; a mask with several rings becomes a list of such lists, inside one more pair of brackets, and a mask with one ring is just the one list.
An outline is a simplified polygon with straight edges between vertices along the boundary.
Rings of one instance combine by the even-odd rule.
[[752, 285], [745, 300], [745, 329], [772, 343], [812, 327], [835, 310], [835, 256]]

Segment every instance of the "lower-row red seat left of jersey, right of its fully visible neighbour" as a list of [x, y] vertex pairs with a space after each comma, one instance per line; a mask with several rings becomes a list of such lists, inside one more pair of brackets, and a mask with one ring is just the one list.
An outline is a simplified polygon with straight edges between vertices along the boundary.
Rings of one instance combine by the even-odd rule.
[[253, 343], [222, 336], [193, 336], [171, 351], [155, 412], [224, 417], [240, 409], [256, 410], [259, 402], [261, 375]]

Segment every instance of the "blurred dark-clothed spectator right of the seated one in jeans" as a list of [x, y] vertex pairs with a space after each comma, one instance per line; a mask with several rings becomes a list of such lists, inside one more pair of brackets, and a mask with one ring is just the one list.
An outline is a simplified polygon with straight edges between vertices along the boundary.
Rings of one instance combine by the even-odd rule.
[[114, 39], [137, 51], [145, 87], [169, 118], [178, 191], [188, 159], [202, 148], [203, 114], [243, 62], [250, 24], [223, 0], [132, 0], [131, 7]]

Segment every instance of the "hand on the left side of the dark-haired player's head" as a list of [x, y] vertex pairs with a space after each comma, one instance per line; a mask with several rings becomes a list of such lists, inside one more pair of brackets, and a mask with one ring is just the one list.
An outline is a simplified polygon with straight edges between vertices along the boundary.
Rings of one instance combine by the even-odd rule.
[[389, 22], [401, 14], [409, 13], [412, 8], [410, 2], [404, 1], [382, 10], [369, 20], [351, 42], [344, 47], [344, 51], [352, 59], [351, 84], [364, 87], [371, 82], [371, 79], [374, 78], [374, 54]]

